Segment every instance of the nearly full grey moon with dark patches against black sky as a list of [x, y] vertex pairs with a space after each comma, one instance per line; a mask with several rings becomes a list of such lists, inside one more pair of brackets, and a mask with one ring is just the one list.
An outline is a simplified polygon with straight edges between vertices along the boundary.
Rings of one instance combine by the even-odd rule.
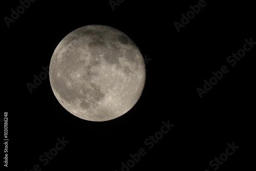
[[123, 32], [102, 25], [80, 27], [58, 44], [49, 78], [58, 102], [89, 121], [112, 120], [140, 98], [145, 63], [139, 48]]

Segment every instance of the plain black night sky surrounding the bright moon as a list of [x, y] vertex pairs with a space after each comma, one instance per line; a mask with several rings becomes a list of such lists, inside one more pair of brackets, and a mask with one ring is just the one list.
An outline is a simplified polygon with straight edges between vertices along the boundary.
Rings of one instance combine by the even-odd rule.
[[[2, 19], [0, 119], [8, 112], [9, 125], [5, 169], [31, 170], [39, 164], [41, 170], [120, 171], [121, 162], [143, 147], [147, 154], [131, 170], [212, 170], [209, 162], [234, 142], [239, 149], [218, 170], [249, 170], [255, 156], [256, 45], [236, 66], [228, 66], [229, 72], [202, 99], [196, 89], [203, 88], [212, 71], [227, 65], [227, 57], [243, 48], [245, 38], [256, 41], [255, 6], [253, 1], [206, 3], [179, 33], [174, 22], [181, 23], [181, 14], [198, 1], [125, 0], [113, 11], [108, 0], [38, 0], [9, 28]], [[2, 18], [19, 5], [17, 0], [2, 2]], [[92, 24], [124, 32], [152, 59], [134, 108], [105, 122], [82, 120], [62, 108], [49, 77], [32, 94], [26, 86], [50, 65], [63, 37]], [[173, 129], [148, 149], [144, 140], [168, 120]], [[39, 156], [62, 137], [69, 143], [44, 166]]]

